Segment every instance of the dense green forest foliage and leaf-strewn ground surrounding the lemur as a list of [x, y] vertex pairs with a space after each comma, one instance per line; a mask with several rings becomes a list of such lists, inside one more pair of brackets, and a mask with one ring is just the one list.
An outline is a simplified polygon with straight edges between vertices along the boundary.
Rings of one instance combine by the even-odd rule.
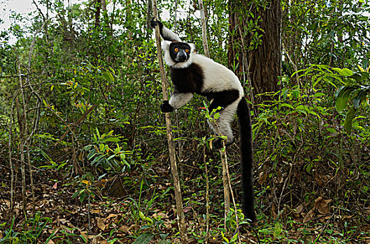
[[[197, 1], [177, 2], [160, 1], [161, 18], [201, 53]], [[32, 15], [12, 15], [0, 33], [0, 243], [177, 242], [150, 1], [34, 4]], [[268, 8], [269, 1], [251, 4]], [[232, 63], [228, 6], [204, 6], [211, 58]], [[252, 107], [258, 222], [241, 229], [241, 240], [366, 243], [369, 3], [281, 6], [280, 91], [254, 94], [269, 100]], [[252, 19], [243, 31], [255, 33], [256, 44], [263, 31]], [[235, 212], [224, 225], [220, 155], [208, 149], [200, 107], [198, 96], [171, 114], [188, 236], [231, 243]], [[238, 147], [227, 149], [236, 202]]]

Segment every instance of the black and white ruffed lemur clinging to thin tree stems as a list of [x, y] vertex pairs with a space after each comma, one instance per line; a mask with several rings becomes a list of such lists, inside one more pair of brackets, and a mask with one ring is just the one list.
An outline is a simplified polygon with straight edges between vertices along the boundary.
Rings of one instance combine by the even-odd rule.
[[[231, 123], [235, 114], [239, 118], [241, 137], [241, 185], [243, 190], [243, 213], [246, 218], [255, 222], [255, 208], [253, 197], [253, 158], [252, 158], [252, 126], [250, 111], [243, 87], [238, 77], [220, 63], [216, 63], [206, 56], [195, 52], [194, 44], [183, 43], [176, 33], [169, 30], [160, 21], [152, 20], [150, 26], [159, 25], [159, 31], [164, 39], [164, 61], [171, 69], [173, 93], [170, 100], [164, 100], [161, 111], [173, 112], [192, 99], [194, 93], [206, 96], [211, 101], [208, 111], [218, 111], [220, 117], [215, 121], [208, 121], [216, 135], [227, 137], [225, 144], [234, 142]], [[214, 143], [215, 148], [221, 147], [220, 139]]]

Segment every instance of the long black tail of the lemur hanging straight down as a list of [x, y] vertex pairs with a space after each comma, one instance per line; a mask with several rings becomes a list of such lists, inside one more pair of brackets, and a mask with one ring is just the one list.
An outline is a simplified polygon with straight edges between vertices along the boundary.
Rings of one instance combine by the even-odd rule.
[[250, 111], [246, 98], [241, 98], [236, 112], [239, 118], [241, 148], [241, 189], [243, 190], [243, 213], [255, 222], [255, 203], [253, 195], [253, 144]]

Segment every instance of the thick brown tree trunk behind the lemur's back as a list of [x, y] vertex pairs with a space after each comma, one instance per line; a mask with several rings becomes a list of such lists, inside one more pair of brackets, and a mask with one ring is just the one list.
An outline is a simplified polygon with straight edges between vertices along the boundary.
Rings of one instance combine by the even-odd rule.
[[[281, 75], [280, 1], [268, 1], [266, 6], [262, 5], [229, 0], [229, 67], [241, 81], [248, 79], [254, 94], [278, 91], [278, 77]], [[251, 27], [250, 21], [255, 26]], [[260, 37], [256, 38], [256, 34]], [[269, 96], [257, 99], [257, 102], [262, 102]]]

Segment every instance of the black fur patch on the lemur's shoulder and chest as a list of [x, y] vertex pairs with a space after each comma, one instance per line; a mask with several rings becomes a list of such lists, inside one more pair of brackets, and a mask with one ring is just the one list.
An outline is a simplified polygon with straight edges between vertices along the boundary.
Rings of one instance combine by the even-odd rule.
[[188, 68], [171, 68], [171, 80], [177, 93], [201, 93], [203, 70], [195, 63]]

